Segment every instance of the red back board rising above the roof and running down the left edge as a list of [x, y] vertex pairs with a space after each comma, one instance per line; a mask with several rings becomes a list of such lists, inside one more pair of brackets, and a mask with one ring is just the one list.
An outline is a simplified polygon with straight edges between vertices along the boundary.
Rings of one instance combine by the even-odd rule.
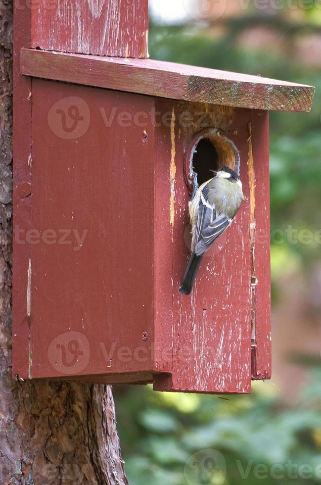
[[[50, 2], [49, 2], [50, 3]], [[32, 376], [32, 82], [20, 73], [23, 48], [46, 46], [101, 55], [148, 56], [147, 0], [14, 2], [13, 57], [13, 374]], [[130, 22], [128, 22], [130, 20]], [[37, 331], [37, 330], [36, 330]]]

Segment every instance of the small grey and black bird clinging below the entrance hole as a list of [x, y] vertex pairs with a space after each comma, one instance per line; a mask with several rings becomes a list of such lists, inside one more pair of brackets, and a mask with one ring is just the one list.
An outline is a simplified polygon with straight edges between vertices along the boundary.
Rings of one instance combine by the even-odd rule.
[[212, 171], [214, 177], [204, 182], [188, 203], [192, 235], [192, 252], [179, 288], [188, 295], [197, 275], [202, 257], [230, 226], [244, 200], [238, 174], [229, 167]]

